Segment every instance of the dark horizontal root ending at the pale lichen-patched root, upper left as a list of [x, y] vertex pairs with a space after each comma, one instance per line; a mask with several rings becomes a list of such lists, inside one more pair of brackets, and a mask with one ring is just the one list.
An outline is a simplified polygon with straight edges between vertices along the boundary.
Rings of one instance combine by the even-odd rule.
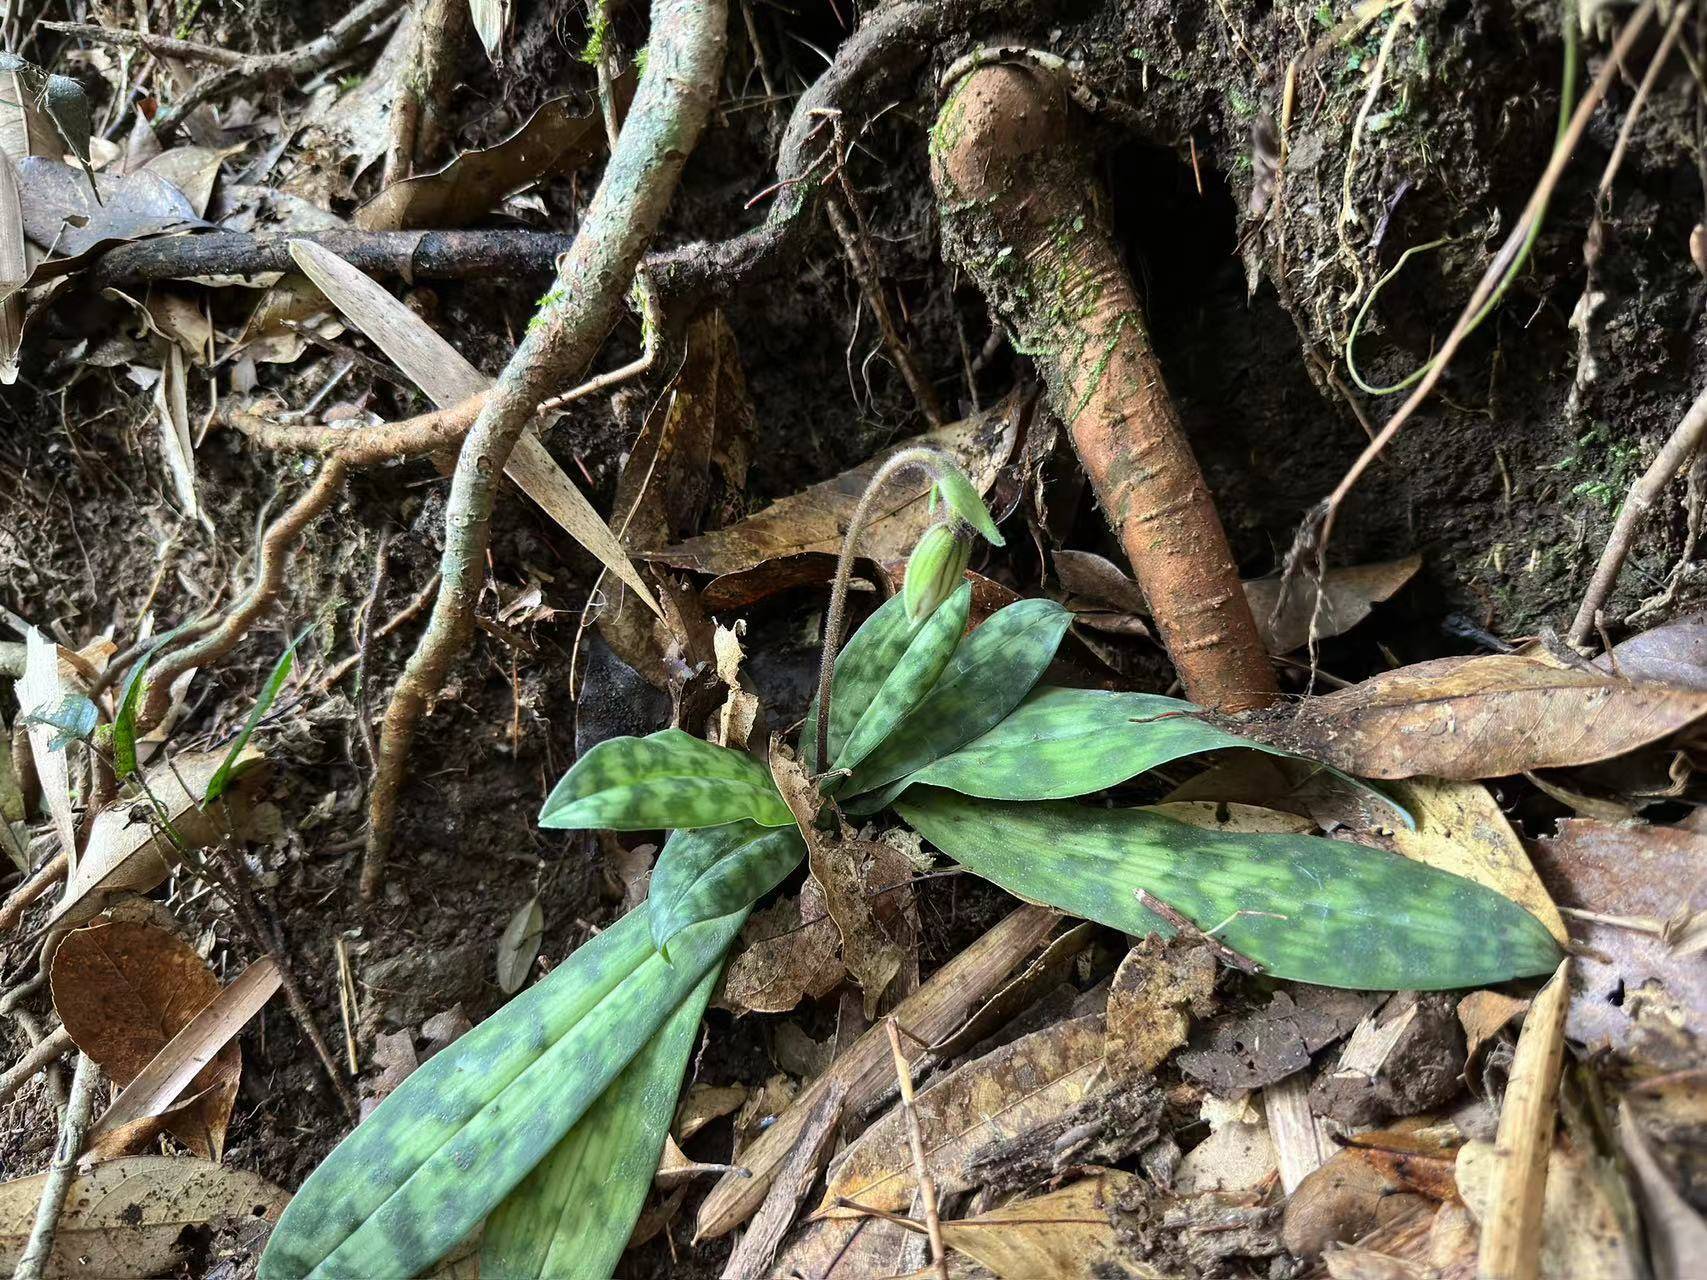
[[550, 275], [574, 236], [555, 230], [318, 230], [248, 236], [212, 230], [159, 236], [108, 251], [89, 268], [90, 288], [203, 275], [294, 271], [292, 241], [309, 241], [367, 275], [399, 280], [492, 280]]

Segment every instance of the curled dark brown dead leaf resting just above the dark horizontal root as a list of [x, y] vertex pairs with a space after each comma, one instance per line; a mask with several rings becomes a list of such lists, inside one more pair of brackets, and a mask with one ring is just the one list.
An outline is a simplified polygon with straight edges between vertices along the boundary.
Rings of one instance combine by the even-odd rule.
[[[633, 73], [626, 82], [633, 92]], [[362, 230], [466, 227], [504, 198], [541, 177], [567, 174], [604, 154], [599, 111], [577, 109], [574, 97], [553, 97], [504, 142], [463, 152], [439, 172], [393, 183], [352, 218]]]

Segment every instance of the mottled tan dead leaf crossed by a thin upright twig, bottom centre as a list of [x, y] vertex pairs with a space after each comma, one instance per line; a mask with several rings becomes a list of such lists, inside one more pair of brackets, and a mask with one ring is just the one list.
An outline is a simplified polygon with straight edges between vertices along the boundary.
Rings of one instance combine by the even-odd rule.
[[[913, 1103], [941, 1195], [968, 1190], [968, 1164], [992, 1142], [1029, 1133], [1082, 1103], [1103, 1080], [1103, 1019], [1075, 1017], [1021, 1036], [956, 1068]], [[893, 1108], [830, 1171], [819, 1217], [847, 1217], [838, 1198], [906, 1212], [915, 1191], [906, 1116]]]

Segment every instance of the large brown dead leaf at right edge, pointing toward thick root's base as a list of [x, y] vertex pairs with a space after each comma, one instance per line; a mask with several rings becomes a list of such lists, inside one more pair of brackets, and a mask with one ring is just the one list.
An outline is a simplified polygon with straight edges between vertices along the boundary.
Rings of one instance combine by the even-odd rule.
[[1388, 671], [1243, 732], [1364, 778], [1470, 780], [1606, 759], [1704, 715], [1707, 693], [1490, 654]]

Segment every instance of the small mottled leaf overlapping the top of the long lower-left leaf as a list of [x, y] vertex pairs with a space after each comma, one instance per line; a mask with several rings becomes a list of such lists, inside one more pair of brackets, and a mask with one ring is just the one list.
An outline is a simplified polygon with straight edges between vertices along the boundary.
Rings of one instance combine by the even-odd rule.
[[799, 828], [731, 823], [674, 831], [652, 869], [652, 940], [664, 951], [688, 925], [751, 906], [801, 865]]

